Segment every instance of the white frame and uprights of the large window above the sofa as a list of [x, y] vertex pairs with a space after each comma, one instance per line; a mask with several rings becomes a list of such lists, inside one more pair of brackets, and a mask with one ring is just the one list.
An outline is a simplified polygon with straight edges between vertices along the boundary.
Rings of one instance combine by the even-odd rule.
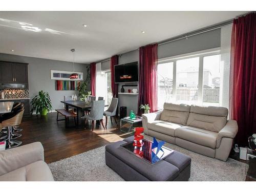
[[[203, 104], [203, 61], [204, 57], [212, 56], [212, 55], [220, 55], [221, 50], [220, 47], [214, 49], [207, 49], [197, 52], [186, 53], [182, 55], [175, 55], [171, 57], [165, 57], [158, 59], [157, 65], [161, 65], [166, 62], [173, 62], [173, 102], [177, 102], [176, 100], [176, 72], [177, 72], [177, 60], [189, 59], [194, 57], [199, 57], [199, 75], [198, 75], [198, 101], [195, 104], [202, 105]], [[159, 108], [160, 109], [160, 108]]]

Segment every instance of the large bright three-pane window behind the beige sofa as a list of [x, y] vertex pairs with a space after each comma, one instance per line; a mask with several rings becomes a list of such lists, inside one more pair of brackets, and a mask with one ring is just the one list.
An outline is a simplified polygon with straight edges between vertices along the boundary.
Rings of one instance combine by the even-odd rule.
[[222, 73], [220, 51], [160, 60], [158, 64], [158, 108], [164, 102], [221, 106], [226, 73]]

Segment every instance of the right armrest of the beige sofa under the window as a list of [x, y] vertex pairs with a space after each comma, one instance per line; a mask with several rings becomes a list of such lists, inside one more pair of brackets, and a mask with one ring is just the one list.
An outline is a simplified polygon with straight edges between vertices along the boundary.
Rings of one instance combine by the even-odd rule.
[[223, 137], [227, 137], [227, 138], [233, 139], [234, 137], [236, 137], [237, 133], [238, 133], [238, 123], [237, 123], [237, 121], [235, 121], [235, 120], [228, 120], [226, 125], [218, 133], [216, 148], [218, 148], [220, 146], [221, 139]]

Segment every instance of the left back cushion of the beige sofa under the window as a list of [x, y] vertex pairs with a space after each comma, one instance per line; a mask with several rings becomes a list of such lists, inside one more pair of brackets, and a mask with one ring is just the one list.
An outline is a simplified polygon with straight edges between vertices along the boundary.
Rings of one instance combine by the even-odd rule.
[[186, 125], [189, 111], [186, 104], [164, 103], [160, 120]]

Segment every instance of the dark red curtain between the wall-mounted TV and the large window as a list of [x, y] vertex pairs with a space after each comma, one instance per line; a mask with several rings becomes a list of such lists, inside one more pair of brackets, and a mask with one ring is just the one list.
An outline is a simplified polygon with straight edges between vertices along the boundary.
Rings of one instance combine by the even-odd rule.
[[150, 112], [157, 111], [157, 47], [157, 44], [140, 47], [138, 115], [141, 104], [149, 104]]

